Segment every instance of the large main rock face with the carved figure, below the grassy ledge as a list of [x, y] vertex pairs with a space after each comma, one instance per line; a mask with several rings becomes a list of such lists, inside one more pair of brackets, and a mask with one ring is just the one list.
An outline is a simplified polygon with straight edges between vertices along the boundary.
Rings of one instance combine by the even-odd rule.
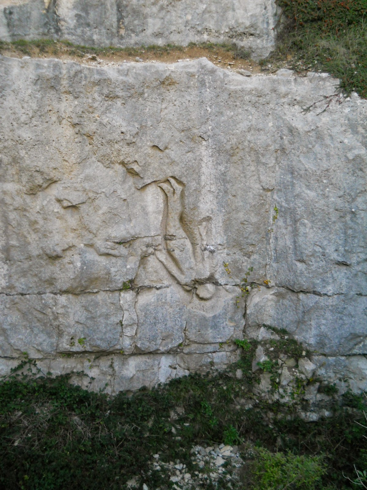
[[0, 70], [1, 372], [152, 386], [265, 324], [367, 388], [366, 101], [206, 58]]

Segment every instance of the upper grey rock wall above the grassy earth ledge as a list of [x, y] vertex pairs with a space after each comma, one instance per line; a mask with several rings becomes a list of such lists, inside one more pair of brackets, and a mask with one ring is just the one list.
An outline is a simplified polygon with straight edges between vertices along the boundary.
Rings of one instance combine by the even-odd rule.
[[0, 0], [0, 39], [67, 39], [86, 46], [235, 42], [274, 48], [274, 0]]

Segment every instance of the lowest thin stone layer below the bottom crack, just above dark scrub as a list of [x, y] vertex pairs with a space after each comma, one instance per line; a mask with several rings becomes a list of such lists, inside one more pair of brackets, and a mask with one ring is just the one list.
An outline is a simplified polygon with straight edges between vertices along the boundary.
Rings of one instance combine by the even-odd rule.
[[[52, 376], [71, 373], [71, 382], [92, 391], [115, 394], [119, 391], [133, 391], [146, 386], [152, 388], [191, 372], [211, 372], [223, 370], [239, 359], [240, 350], [232, 352], [179, 353], [179, 354], [106, 354], [91, 359], [87, 355], [58, 356], [37, 359], [37, 375], [51, 372]], [[24, 358], [0, 357], [0, 376], [11, 374]], [[367, 391], [366, 355], [323, 356], [312, 355], [312, 377], [321, 378], [323, 383], [335, 385], [339, 395], [351, 391]], [[19, 373], [28, 374], [27, 366]], [[84, 373], [84, 374], [83, 374]], [[92, 379], [95, 378], [95, 379]], [[318, 386], [315, 385], [315, 386]], [[264, 388], [265, 389], [265, 388]], [[261, 391], [261, 386], [259, 388]], [[259, 392], [259, 394], [261, 394]], [[264, 393], [266, 394], [266, 390]]]

